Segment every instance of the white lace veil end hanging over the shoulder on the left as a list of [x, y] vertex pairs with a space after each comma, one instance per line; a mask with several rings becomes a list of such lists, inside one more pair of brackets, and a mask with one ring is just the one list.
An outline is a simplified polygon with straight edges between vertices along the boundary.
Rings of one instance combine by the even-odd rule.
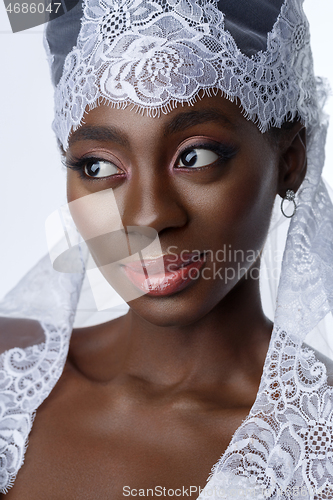
[[73, 277], [53, 271], [46, 256], [0, 304], [1, 317], [41, 321], [45, 334], [45, 342], [16, 347], [0, 356], [2, 493], [12, 486], [23, 464], [36, 409], [62, 373], [81, 281], [81, 274]]

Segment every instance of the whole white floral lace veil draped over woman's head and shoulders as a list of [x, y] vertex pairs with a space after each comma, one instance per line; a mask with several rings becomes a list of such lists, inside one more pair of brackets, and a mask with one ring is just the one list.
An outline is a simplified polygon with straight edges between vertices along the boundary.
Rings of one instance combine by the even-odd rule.
[[[200, 499], [333, 497], [333, 342], [325, 328], [333, 308], [333, 207], [321, 178], [327, 90], [313, 75], [302, 3], [85, 0], [46, 31], [54, 130], [64, 149], [85, 110], [99, 103], [158, 116], [217, 92], [237, 99], [262, 132], [294, 118], [307, 127], [296, 214], [285, 219], [277, 200], [262, 259], [274, 330], [257, 398]], [[85, 267], [83, 250], [71, 258]], [[31, 347], [14, 346], [0, 358], [2, 491], [15, 480], [34, 412], [63, 369], [83, 274], [57, 273], [47, 257], [0, 304], [3, 318], [28, 318], [45, 335], [34, 343], [40, 329], [32, 328]]]

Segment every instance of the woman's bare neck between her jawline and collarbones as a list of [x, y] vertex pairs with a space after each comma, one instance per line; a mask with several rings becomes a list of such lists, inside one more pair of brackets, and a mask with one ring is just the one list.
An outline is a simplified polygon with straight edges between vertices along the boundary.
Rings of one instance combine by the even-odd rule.
[[[128, 348], [123, 369], [162, 386], [202, 389], [235, 374], [261, 375], [272, 325], [258, 280], [242, 280], [205, 317], [185, 326], [156, 326], [130, 309], [123, 320]], [[259, 375], [259, 376], [260, 376]]]

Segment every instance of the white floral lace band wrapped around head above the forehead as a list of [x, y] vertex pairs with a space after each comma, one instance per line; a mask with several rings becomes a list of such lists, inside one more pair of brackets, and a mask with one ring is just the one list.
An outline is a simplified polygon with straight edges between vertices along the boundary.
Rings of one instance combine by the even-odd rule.
[[[131, 104], [152, 116], [200, 93], [239, 99], [260, 130], [298, 115], [316, 120], [308, 23], [302, 1], [285, 2], [267, 50], [251, 58], [206, 0], [85, 0], [77, 45], [55, 92], [54, 130], [66, 149], [87, 107]], [[302, 82], [301, 85], [299, 82]]]

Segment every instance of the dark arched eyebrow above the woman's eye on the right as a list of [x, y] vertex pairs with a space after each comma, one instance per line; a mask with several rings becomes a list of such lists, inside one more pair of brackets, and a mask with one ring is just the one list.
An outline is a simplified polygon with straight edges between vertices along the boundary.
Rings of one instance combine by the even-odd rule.
[[216, 109], [204, 109], [201, 111], [189, 111], [175, 116], [165, 126], [164, 135], [174, 134], [206, 122], [219, 122], [228, 128], [234, 127], [234, 124], [220, 111]]

